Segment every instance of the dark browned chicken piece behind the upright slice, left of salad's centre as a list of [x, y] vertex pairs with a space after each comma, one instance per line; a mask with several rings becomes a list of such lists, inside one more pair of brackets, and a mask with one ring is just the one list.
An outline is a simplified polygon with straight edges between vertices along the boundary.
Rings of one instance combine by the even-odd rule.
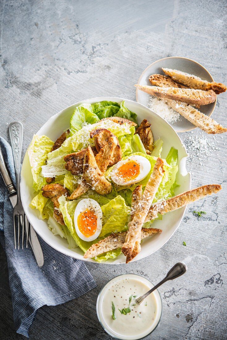
[[[70, 153], [64, 157], [66, 162], [65, 168], [70, 171], [72, 175], [78, 176], [83, 174], [83, 163], [86, 151], [87, 149], [83, 149], [78, 152]], [[95, 147], [92, 148], [92, 151], [94, 155], [97, 154]]]

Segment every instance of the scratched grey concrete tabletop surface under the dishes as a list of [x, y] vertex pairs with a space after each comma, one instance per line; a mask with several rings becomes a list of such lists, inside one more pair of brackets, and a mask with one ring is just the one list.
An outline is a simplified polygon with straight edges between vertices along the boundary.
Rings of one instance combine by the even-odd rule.
[[[1, 0], [1, 136], [9, 139], [8, 124], [20, 120], [25, 152], [33, 133], [66, 106], [96, 96], [135, 100], [133, 84], [141, 72], [166, 56], [192, 58], [227, 83], [226, 22], [224, 0]], [[221, 94], [213, 118], [224, 126], [226, 109], [227, 95]], [[176, 233], [146, 259], [87, 265], [97, 288], [64, 305], [40, 308], [31, 340], [110, 339], [95, 311], [100, 288], [126, 272], [157, 283], [178, 260], [187, 263], [188, 273], [160, 287], [163, 315], [147, 339], [227, 338], [226, 136], [196, 129], [180, 137], [192, 187], [220, 183], [223, 190], [187, 207]], [[199, 149], [198, 140], [205, 146]], [[198, 209], [207, 214], [196, 218], [192, 212]], [[0, 339], [22, 339], [15, 333], [2, 249], [0, 299]]]

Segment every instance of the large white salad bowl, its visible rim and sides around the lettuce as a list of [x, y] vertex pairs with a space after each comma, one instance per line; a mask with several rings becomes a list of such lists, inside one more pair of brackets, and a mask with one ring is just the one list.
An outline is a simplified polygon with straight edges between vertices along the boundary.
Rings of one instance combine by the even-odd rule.
[[[79, 103], [71, 105], [65, 108], [63, 111], [57, 113], [52, 116], [37, 132], [37, 135], [46, 135], [52, 140], [56, 140], [63, 130], [68, 129], [69, 127], [69, 119], [74, 112], [75, 108], [82, 103], [96, 103], [99, 101], [115, 101], [120, 103], [125, 100], [125, 105], [129, 108], [129, 110], [135, 112], [137, 114], [138, 123], [141, 123], [143, 119], [147, 119], [152, 124], [152, 132], [154, 135], [154, 139], [161, 138], [163, 140], [163, 150], [161, 157], [165, 158], [169, 152], [169, 149], [173, 146], [178, 149], [178, 174], [177, 174], [177, 183], [180, 184], [180, 187], [177, 190], [177, 194], [190, 190], [191, 188], [191, 174], [187, 172], [185, 168], [185, 162], [187, 158], [187, 152], [185, 147], [174, 131], [174, 129], [159, 115], [152, 112], [146, 106], [133, 102], [131, 100], [123, 99], [123, 98], [115, 98], [115, 97], [98, 97], [91, 98], [87, 100], [83, 100]], [[78, 247], [74, 250], [68, 249], [67, 241], [62, 239], [60, 236], [54, 236], [52, 232], [48, 228], [47, 220], [40, 220], [38, 218], [38, 214], [35, 209], [31, 209], [29, 204], [34, 197], [34, 190], [32, 188], [33, 179], [32, 173], [29, 163], [28, 153], [26, 152], [25, 158], [22, 164], [21, 170], [21, 182], [20, 182], [20, 190], [21, 190], [21, 200], [23, 204], [23, 208], [25, 210], [26, 216], [29, 222], [33, 225], [36, 233], [42, 237], [42, 239], [47, 242], [52, 248], [58, 250], [59, 252], [83, 260], [88, 262], [96, 262], [92, 259], [84, 259], [83, 252]], [[152, 237], [148, 237], [143, 241], [142, 250], [139, 255], [136, 256], [134, 260], [140, 260], [154, 252], [156, 252], [163, 244], [165, 244], [168, 239], [174, 234], [180, 222], [183, 218], [185, 211], [185, 207], [178, 209], [173, 212], [169, 212], [165, 216], [163, 216], [162, 220], [155, 221], [152, 225], [154, 228], [161, 228], [163, 231], [160, 234], [155, 234]], [[96, 262], [97, 263], [97, 262]], [[125, 263], [125, 256], [121, 254], [117, 258], [113, 260], [108, 260], [107, 262], [102, 263]]]

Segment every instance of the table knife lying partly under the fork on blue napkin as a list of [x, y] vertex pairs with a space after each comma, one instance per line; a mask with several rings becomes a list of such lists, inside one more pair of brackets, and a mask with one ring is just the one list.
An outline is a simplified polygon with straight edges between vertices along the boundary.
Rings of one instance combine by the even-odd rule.
[[[14, 207], [17, 203], [17, 192], [13, 185], [12, 179], [10, 177], [9, 170], [7, 169], [7, 166], [5, 164], [5, 160], [3, 158], [1, 147], [0, 147], [0, 173], [2, 175], [2, 179], [6, 185], [6, 188], [9, 191], [9, 198], [12, 203], [12, 206]], [[26, 233], [27, 233], [28, 220], [27, 220], [27, 217], [25, 217], [25, 219], [26, 219]], [[29, 243], [31, 245], [31, 249], [33, 251], [37, 265], [39, 267], [43, 267], [44, 265], [43, 251], [39, 243], [39, 240], [37, 238], [37, 235], [31, 225], [30, 225], [30, 233], [29, 233]]]

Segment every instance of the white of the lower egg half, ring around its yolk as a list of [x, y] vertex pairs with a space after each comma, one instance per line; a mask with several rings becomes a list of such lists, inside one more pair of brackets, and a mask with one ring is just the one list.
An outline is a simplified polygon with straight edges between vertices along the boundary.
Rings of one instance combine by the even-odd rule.
[[[91, 210], [94, 211], [96, 217], [97, 217], [97, 229], [94, 235], [86, 237], [84, 236], [77, 224], [77, 219], [78, 216], [81, 214], [81, 212], [85, 211], [85, 210]], [[102, 230], [102, 210], [100, 205], [98, 204], [98, 202], [96, 202], [95, 200], [91, 199], [91, 198], [85, 198], [83, 200], [81, 200], [75, 209], [75, 213], [74, 213], [74, 225], [75, 225], [75, 229], [76, 229], [76, 233], [79, 236], [79, 238], [81, 238], [81, 240], [86, 241], [86, 242], [90, 242], [90, 241], [94, 241], [99, 234], [101, 233]]]

